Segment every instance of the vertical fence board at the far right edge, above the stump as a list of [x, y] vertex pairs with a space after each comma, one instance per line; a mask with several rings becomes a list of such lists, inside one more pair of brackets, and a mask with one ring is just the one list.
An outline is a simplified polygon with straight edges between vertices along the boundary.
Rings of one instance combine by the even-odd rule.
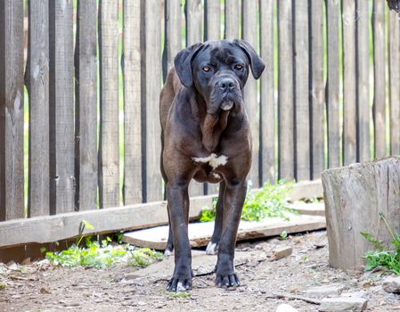
[[400, 153], [400, 23], [398, 13], [388, 13], [388, 68], [390, 154]]

